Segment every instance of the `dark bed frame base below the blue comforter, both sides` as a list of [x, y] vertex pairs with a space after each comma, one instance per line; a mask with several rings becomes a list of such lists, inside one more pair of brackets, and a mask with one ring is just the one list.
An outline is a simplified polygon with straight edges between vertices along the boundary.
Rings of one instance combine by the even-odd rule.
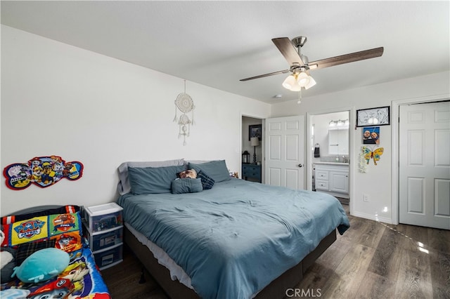
[[[326, 251], [326, 249], [333, 244], [336, 240], [336, 230], [333, 230], [322, 239], [319, 245], [311, 251], [300, 263], [290, 268], [280, 277], [271, 282], [262, 291], [260, 291], [255, 298], [257, 299], [273, 299], [273, 298], [284, 298], [285, 291], [288, 288], [295, 287], [302, 278], [303, 274], [307, 269], [314, 263], [314, 261], [319, 258], [319, 256]], [[141, 261], [144, 267], [150, 272], [150, 275], [158, 281], [161, 288], [165, 293], [172, 299], [199, 299], [193, 289], [188, 288], [179, 281], [173, 281], [170, 278], [169, 270], [158, 263], [158, 260], [153, 257], [153, 253], [148, 249], [147, 246], [143, 245], [134, 234], [132, 234], [126, 226], [124, 226], [124, 241], [129, 246], [130, 250], [136, 255], [136, 257]]]

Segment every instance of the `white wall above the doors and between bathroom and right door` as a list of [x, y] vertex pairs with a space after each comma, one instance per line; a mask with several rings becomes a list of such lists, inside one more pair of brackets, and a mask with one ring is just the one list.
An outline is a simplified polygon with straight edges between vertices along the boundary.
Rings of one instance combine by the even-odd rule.
[[[302, 103], [297, 105], [296, 101], [283, 102], [272, 105], [271, 117], [281, 117], [296, 114], [319, 114], [323, 112], [323, 107], [327, 107], [326, 112], [335, 109], [341, 111], [347, 107], [354, 109], [365, 109], [373, 107], [390, 106], [394, 100], [406, 100], [416, 98], [426, 98], [437, 96], [438, 98], [449, 98], [450, 94], [450, 72], [428, 74], [422, 77], [392, 81], [385, 84], [356, 88], [337, 93], [329, 93], [311, 98], [303, 98]], [[320, 84], [320, 82], [318, 82]], [[307, 93], [307, 91], [305, 92]], [[355, 123], [355, 115], [351, 115], [350, 124]], [[391, 121], [396, 121], [391, 119]], [[373, 161], [368, 165], [367, 173], [359, 173], [358, 161], [361, 150], [361, 128], [352, 129], [354, 146], [352, 147], [351, 167], [353, 177], [351, 178], [352, 210], [354, 215], [378, 219], [385, 222], [392, 221], [392, 201], [398, 201], [397, 197], [392, 198], [392, 132], [391, 126], [380, 126], [382, 140], [380, 147], [385, 151], [378, 166], [373, 165]], [[370, 201], [364, 202], [362, 194], [368, 194]]]

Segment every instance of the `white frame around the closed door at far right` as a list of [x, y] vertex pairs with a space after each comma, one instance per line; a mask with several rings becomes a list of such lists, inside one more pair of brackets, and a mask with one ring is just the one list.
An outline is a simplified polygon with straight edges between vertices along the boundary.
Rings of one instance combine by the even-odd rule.
[[401, 105], [436, 102], [438, 100], [449, 100], [450, 93], [442, 95], [430, 95], [422, 98], [411, 98], [404, 100], [392, 101], [392, 116], [391, 116], [391, 130], [392, 130], [392, 189], [391, 189], [391, 210], [392, 210], [392, 224], [399, 224], [399, 107]]

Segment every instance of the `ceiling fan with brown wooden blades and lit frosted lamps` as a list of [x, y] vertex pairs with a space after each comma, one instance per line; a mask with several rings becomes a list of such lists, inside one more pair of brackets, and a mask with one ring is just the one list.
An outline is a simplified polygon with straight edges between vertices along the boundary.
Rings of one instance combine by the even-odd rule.
[[[383, 55], [384, 50], [383, 47], [379, 47], [309, 62], [307, 56], [302, 55], [301, 53], [302, 46], [304, 46], [307, 42], [307, 38], [305, 36], [297, 36], [292, 39], [292, 41], [288, 37], [278, 37], [276, 39], [272, 39], [272, 41], [284, 56], [285, 60], [288, 60], [290, 68], [283, 71], [271, 72], [269, 74], [240, 79], [240, 81], [248, 81], [290, 72], [291, 74], [285, 79], [285, 81], [283, 81], [283, 87], [289, 89], [290, 91], [300, 91], [302, 87], [304, 89], [308, 89], [316, 85], [316, 81], [314, 81], [314, 79], [309, 75], [310, 69], [323, 69], [324, 67], [333, 67], [344, 63], [380, 57]], [[297, 48], [297, 50], [295, 50], [295, 48]]]

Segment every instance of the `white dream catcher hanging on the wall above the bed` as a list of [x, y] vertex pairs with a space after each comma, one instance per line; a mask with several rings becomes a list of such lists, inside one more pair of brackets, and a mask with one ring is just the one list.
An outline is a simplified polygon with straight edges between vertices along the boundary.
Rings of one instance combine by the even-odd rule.
[[[179, 109], [183, 114], [180, 117], [176, 117], [177, 109]], [[191, 124], [194, 125], [194, 102], [191, 95], [186, 93], [186, 80], [184, 80], [184, 93], [179, 93], [175, 100], [175, 118], [174, 121], [178, 123], [179, 132], [178, 138], [183, 136], [183, 145], [186, 145], [186, 137], [189, 137], [191, 132]], [[191, 119], [189, 119], [186, 113], [191, 112]]]

